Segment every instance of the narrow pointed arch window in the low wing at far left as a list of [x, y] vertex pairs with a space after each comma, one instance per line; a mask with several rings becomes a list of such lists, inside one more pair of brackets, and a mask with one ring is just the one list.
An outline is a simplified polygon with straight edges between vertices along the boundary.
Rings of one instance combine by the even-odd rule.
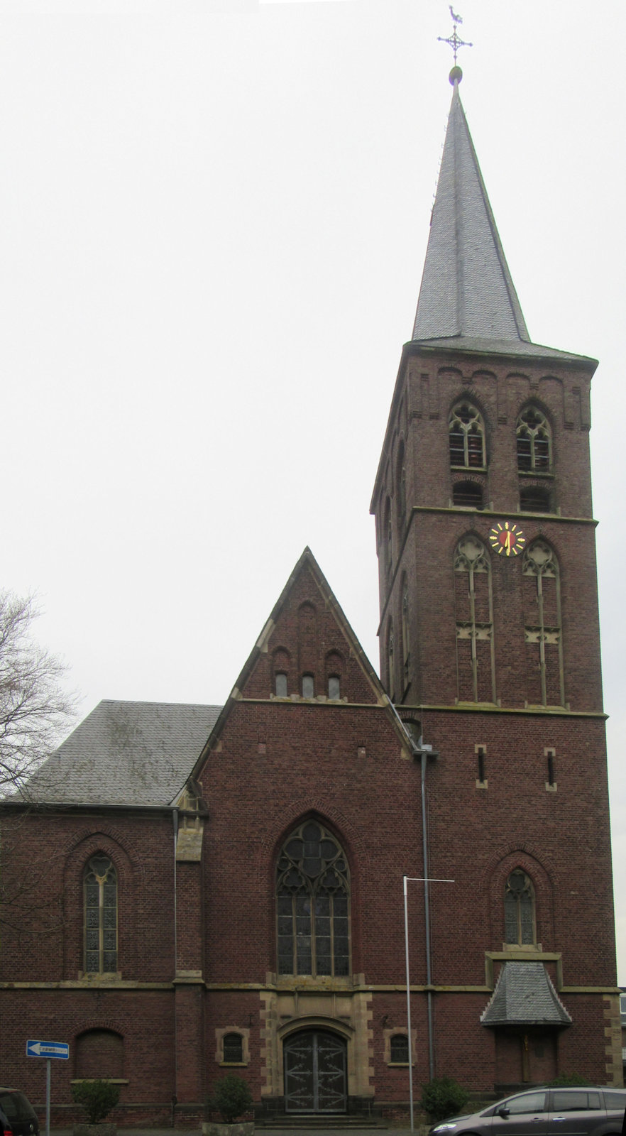
[[84, 877], [85, 974], [117, 971], [117, 874], [106, 855], [89, 861]]

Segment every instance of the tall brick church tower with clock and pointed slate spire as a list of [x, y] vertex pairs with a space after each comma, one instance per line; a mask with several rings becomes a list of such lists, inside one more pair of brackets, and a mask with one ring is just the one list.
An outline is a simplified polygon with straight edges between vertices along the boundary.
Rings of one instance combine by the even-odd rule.
[[[372, 503], [382, 680], [437, 753], [423, 875], [456, 880], [414, 900], [431, 924], [423, 977], [456, 984], [437, 995], [441, 1035], [454, 1017], [469, 1024], [483, 963], [487, 985], [499, 975], [481, 1021], [502, 1086], [576, 1069], [579, 1022], [601, 1001], [598, 1075], [618, 1083], [589, 452], [596, 362], [529, 339], [459, 80], [454, 68]], [[569, 1012], [548, 1005], [546, 976]]]

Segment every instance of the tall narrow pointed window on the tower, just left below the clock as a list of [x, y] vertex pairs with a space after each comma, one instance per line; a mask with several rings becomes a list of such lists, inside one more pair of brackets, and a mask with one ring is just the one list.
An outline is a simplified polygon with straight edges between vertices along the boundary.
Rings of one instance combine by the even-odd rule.
[[491, 560], [473, 534], [457, 545], [454, 592], [459, 702], [495, 702]]

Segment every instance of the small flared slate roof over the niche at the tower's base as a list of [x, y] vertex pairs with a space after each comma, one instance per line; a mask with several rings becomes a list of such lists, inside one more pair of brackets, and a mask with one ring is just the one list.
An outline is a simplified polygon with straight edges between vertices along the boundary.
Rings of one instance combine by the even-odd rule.
[[483, 1026], [568, 1026], [571, 1022], [543, 962], [504, 962], [481, 1016]]

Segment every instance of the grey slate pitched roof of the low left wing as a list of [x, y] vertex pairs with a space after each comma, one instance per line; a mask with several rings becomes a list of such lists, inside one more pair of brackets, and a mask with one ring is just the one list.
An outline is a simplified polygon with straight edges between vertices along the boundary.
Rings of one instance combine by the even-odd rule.
[[170, 804], [220, 710], [178, 702], [99, 702], [24, 795], [50, 804]]

